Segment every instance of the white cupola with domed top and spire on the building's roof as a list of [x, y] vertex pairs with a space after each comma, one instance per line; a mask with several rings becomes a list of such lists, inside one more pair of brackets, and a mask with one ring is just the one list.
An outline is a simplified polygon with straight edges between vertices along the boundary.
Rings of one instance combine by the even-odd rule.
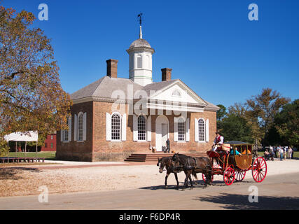
[[127, 49], [129, 54], [129, 78], [139, 85], [148, 85], [153, 82], [152, 56], [155, 50], [148, 41], [142, 38], [140, 26], [139, 39]]

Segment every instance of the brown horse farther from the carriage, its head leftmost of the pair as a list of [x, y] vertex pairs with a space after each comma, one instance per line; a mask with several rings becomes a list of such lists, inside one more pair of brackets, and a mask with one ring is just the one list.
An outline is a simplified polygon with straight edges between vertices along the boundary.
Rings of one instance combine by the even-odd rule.
[[[160, 174], [162, 174], [164, 167], [166, 169], [165, 188], [168, 188], [167, 187], [167, 179], [168, 179], [169, 174], [173, 173], [176, 178], [176, 189], [179, 189], [179, 180], [178, 180], [177, 173], [183, 171], [183, 166], [179, 166], [179, 165], [176, 166], [175, 162], [172, 161], [172, 156], [163, 157], [160, 159], [158, 158], [157, 166], [159, 167]], [[197, 176], [195, 173], [193, 173], [193, 176], [195, 177], [195, 179], [197, 179]]]

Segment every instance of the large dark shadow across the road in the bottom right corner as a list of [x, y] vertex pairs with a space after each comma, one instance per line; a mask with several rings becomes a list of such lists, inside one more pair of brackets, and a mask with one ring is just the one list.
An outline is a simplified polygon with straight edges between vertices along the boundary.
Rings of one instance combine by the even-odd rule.
[[258, 196], [258, 202], [249, 202], [249, 195], [222, 193], [217, 196], [196, 197], [194, 200], [219, 204], [223, 209], [299, 209], [299, 197]]

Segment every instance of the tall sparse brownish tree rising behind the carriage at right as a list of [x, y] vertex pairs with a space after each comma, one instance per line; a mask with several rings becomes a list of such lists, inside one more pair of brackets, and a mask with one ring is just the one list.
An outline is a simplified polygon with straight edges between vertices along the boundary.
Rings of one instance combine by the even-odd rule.
[[290, 99], [281, 97], [279, 92], [270, 88], [265, 88], [261, 94], [246, 100], [246, 116], [251, 118], [253, 123], [254, 120], [258, 123], [262, 133], [260, 137], [263, 139], [264, 146], [267, 144], [265, 137], [274, 123], [275, 115], [288, 102], [290, 102]]

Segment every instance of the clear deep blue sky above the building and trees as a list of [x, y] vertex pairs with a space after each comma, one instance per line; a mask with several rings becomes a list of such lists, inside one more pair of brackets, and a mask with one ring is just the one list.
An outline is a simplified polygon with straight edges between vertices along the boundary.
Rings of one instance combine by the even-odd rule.
[[[69, 1], [2, 0], [31, 11], [48, 5], [49, 20], [34, 22], [52, 39], [60, 80], [72, 93], [106, 75], [106, 59], [118, 59], [118, 77], [128, 78], [125, 51], [138, 38], [155, 49], [153, 80], [172, 68], [203, 99], [230, 106], [263, 88], [299, 98], [299, 1]], [[248, 18], [258, 5], [258, 21]]]

